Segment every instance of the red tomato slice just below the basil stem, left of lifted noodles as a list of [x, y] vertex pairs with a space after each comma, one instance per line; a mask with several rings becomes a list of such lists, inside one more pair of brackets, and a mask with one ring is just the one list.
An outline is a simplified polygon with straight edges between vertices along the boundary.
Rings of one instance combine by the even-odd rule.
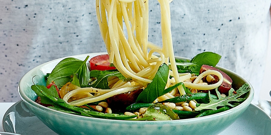
[[108, 54], [98, 55], [89, 60], [90, 70], [112, 70], [115, 67], [110, 67]]

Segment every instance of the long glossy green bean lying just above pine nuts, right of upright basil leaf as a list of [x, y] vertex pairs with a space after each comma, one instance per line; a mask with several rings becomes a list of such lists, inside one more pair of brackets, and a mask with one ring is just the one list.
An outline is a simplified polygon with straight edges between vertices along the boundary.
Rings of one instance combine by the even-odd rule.
[[[215, 95], [210, 95], [213, 99], [218, 99]], [[209, 94], [207, 93], [192, 93], [192, 94], [185, 94], [180, 95], [171, 99], [164, 100], [162, 102], [172, 102], [172, 103], [179, 103], [179, 102], [186, 102], [190, 100], [196, 100], [196, 99], [209, 99]], [[160, 103], [160, 102], [159, 102]]]

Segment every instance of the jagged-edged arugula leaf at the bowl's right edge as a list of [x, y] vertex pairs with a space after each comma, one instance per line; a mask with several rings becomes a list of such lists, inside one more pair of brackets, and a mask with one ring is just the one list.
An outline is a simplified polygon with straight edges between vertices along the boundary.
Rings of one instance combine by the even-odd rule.
[[[203, 109], [212, 109], [212, 110], [217, 110], [218, 106], [231, 106], [231, 107], [236, 107], [239, 105], [239, 102], [243, 102], [247, 97], [242, 98], [241, 96], [248, 91], [250, 91], [248, 83], [245, 83], [242, 87], [240, 87], [236, 93], [234, 93], [234, 89], [231, 89], [229, 91], [229, 96], [228, 97], [221, 97], [218, 89], [215, 89], [218, 99], [213, 99], [212, 97], [209, 96], [210, 102], [208, 104], [200, 104], [198, 107], [195, 108], [195, 111], [200, 111]], [[210, 91], [209, 91], [210, 95]]]

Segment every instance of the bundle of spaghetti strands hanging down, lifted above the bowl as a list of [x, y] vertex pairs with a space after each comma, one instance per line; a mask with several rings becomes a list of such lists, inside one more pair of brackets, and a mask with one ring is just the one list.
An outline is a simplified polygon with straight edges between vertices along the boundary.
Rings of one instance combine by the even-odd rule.
[[[110, 56], [109, 61], [124, 76], [132, 77], [145, 85], [152, 82], [159, 66], [162, 63], [168, 64], [169, 60], [171, 75], [175, 77], [176, 83], [180, 82], [172, 45], [169, 8], [171, 1], [158, 1], [161, 5], [163, 47], [155, 47], [148, 52], [149, 1], [96, 0], [97, 19]], [[155, 52], [160, 54], [160, 57], [152, 55]], [[180, 92], [185, 94], [183, 90]]]

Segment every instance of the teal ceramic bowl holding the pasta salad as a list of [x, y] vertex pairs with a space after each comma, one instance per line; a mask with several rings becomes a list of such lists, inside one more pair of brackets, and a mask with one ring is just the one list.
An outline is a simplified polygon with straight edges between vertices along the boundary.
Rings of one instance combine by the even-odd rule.
[[[84, 60], [86, 56], [94, 57], [105, 53], [81, 54], [75, 57]], [[178, 57], [181, 58], [181, 57]], [[212, 135], [219, 134], [230, 126], [242, 113], [248, 108], [253, 99], [253, 88], [249, 92], [248, 98], [230, 110], [220, 112], [214, 115], [204, 116], [200, 118], [190, 118], [184, 120], [170, 121], [126, 121], [126, 120], [108, 120], [100, 118], [89, 118], [78, 115], [67, 114], [52, 110], [35, 103], [37, 95], [31, 90], [34, 82], [39, 85], [45, 85], [43, 76], [50, 73], [55, 65], [64, 58], [46, 62], [26, 73], [19, 82], [18, 92], [21, 99], [27, 107], [39, 118], [46, 126], [51, 128], [60, 135], [157, 135], [157, 134], [184, 134], [184, 135]], [[185, 59], [185, 58], [182, 58]], [[250, 84], [240, 75], [224, 68], [217, 67], [227, 73], [233, 80], [233, 88], [239, 88], [244, 83]], [[33, 121], [34, 122], [34, 121]]]

